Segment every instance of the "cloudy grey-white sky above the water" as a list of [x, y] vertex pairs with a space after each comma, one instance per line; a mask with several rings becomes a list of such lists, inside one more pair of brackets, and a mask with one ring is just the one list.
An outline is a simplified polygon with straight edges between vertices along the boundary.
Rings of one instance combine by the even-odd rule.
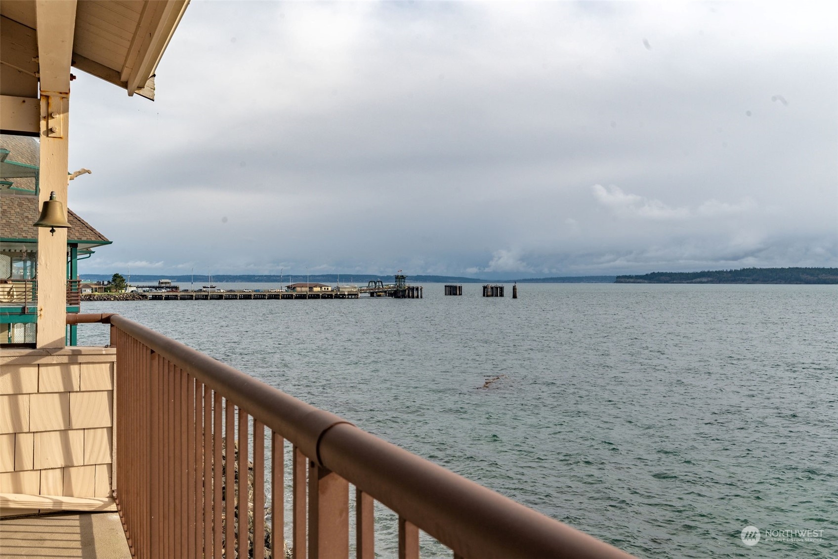
[[73, 82], [82, 273], [838, 266], [827, 3], [193, 2]]

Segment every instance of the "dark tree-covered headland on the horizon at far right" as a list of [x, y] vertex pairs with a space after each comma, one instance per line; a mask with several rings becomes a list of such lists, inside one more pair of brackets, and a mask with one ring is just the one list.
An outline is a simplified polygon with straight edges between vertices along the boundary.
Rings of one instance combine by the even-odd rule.
[[838, 283], [838, 268], [742, 268], [618, 276], [616, 283]]

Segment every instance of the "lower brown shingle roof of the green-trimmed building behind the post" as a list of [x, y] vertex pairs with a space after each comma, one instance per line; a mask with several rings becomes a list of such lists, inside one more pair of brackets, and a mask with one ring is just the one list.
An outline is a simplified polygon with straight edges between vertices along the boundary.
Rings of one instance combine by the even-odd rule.
[[[25, 194], [0, 196], [0, 238], [28, 239], [35, 241], [38, 234], [32, 224], [40, 215], [38, 198]], [[67, 210], [67, 241], [88, 241], [110, 243], [106, 236], [93, 229], [89, 223], [82, 220], [73, 210]]]

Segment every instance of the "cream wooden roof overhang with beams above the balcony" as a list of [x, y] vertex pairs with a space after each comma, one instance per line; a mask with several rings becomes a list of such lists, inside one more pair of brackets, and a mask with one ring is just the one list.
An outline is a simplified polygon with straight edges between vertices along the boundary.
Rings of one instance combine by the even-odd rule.
[[189, 0], [3, 0], [0, 129], [39, 132], [39, 93], [70, 93], [70, 66], [154, 99], [154, 72]]

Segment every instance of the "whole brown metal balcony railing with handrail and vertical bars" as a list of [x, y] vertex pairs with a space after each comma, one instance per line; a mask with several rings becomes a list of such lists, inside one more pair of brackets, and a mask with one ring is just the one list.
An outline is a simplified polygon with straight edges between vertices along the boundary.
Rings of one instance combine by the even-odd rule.
[[68, 322], [111, 324], [113, 488], [134, 556], [264, 557], [268, 510], [273, 557], [284, 556], [286, 520], [293, 557], [348, 557], [352, 484], [363, 559], [375, 556], [376, 500], [398, 515], [400, 558], [419, 556], [419, 530], [455, 558], [629, 557], [127, 318], [79, 314]]

